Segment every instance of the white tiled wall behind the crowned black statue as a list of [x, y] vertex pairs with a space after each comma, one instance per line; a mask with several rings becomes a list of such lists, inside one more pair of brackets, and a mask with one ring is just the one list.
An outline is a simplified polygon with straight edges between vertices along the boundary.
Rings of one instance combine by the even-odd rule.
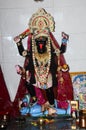
[[54, 36], [59, 44], [62, 31], [70, 35], [64, 54], [70, 72], [86, 71], [86, 0], [0, 0], [0, 64], [12, 101], [20, 81], [15, 65], [24, 62], [13, 38], [27, 29], [30, 17], [39, 8], [45, 8], [54, 17]]

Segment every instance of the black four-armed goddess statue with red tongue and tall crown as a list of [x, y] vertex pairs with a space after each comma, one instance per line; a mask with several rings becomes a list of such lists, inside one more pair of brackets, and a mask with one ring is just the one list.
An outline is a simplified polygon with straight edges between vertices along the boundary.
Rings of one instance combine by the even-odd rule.
[[[26, 88], [32, 98], [30, 106], [35, 105], [38, 101], [34, 89], [34, 87], [37, 87], [45, 90], [49, 107], [54, 107], [53, 88], [57, 87], [58, 89], [59, 72], [65, 73], [69, 70], [66, 63], [60, 65], [60, 56], [66, 51], [69, 36], [62, 32], [62, 43], [59, 47], [52, 34], [54, 29], [53, 17], [44, 9], [40, 9], [32, 15], [29, 21], [29, 29], [14, 38], [19, 54], [27, 59], [24, 67], [17, 65], [16, 69], [17, 73], [26, 80]], [[29, 47], [25, 50], [22, 40], [27, 36]], [[63, 82], [62, 80], [64, 80], [63, 77], [61, 82]], [[73, 96], [69, 97], [68, 100], [72, 98]]]

